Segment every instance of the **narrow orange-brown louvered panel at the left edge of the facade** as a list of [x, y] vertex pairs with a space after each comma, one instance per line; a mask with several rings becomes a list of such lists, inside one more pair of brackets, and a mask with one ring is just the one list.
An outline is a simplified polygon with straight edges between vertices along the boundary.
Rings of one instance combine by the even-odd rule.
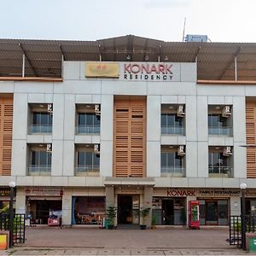
[[0, 100], [0, 170], [2, 176], [11, 175], [13, 100]]

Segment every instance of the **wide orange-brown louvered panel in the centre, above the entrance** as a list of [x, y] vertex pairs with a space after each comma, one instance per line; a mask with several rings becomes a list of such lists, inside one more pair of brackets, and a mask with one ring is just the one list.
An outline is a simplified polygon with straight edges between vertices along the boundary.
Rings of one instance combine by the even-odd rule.
[[113, 176], [145, 176], [146, 102], [114, 103]]

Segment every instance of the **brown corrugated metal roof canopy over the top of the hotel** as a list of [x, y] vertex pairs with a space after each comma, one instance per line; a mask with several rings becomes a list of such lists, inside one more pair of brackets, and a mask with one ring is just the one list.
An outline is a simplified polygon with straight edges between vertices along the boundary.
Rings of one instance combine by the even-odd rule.
[[197, 60], [197, 79], [256, 80], [256, 43], [164, 42], [127, 35], [96, 41], [0, 39], [0, 76], [61, 78], [61, 61]]

